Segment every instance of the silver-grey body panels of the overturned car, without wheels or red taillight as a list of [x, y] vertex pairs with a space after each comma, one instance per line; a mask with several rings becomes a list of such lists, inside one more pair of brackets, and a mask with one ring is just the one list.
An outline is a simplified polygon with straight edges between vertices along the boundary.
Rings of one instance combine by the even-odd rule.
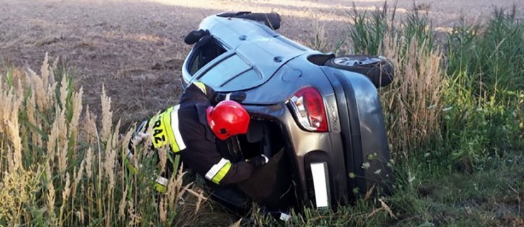
[[[246, 92], [243, 105], [254, 118], [279, 124], [294, 162], [296, 193], [305, 203], [311, 200], [318, 208], [346, 204], [355, 193], [391, 179], [379, 96], [367, 77], [311, 60], [333, 55], [295, 43], [263, 23], [209, 16], [200, 29], [209, 31], [225, 52], [191, 74], [192, 55], [203, 38], [184, 62], [183, 86], [199, 80], [218, 92]], [[328, 132], [307, 131], [297, 123], [289, 100], [304, 87], [316, 88], [323, 97]], [[312, 171], [315, 163], [325, 167], [324, 178]], [[322, 196], [315, 192], [319, 187], [327, 190]]]

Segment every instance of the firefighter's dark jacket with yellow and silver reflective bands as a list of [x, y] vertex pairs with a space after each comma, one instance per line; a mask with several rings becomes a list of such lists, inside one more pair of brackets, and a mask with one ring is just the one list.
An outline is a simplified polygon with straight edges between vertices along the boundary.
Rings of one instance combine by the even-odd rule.
[[[153, 148], [169, 146], [172, 153], [179, 155], [184, 167], [191, 168], [211, 182], [240, 182], [250, 177], [254, 167], [249, 162], [230, 162], [218, 152], [216, 137], [206, 119], [206, 109], [211, 106], [214, 96], [213, 89], [205, 84], [191, 84], [178, 105], [143, 123], [140, 131], [151, 133]], [[157, 183], [165, 186], [167, 181], [161, 178], [163, 180], [157, 179]]]

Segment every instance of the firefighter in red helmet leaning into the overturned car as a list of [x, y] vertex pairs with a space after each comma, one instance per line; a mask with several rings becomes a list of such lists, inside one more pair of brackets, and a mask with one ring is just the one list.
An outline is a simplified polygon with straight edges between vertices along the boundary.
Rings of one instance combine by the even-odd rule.
[[[128, 146], [128, 167], [135, 171], [129, 162], [133, 148], [150, 137], [150, 148], [169, 147], [174, 153], [173, 167], [165, 170], [168, 174], [177, 172], [182, 161], [184, 167], [215, 184], [234, 184], [247, 179], [257, 167], [267, 163], [267, 157], [260, 155], [243, 162], [230, 162], [221, 157], [216, 147], [216, 138], [226, 140], [247, 133], [250, 115], [238, 103], [244, 99], [244, 92], [214, 92], [202, 82], [189, 85], [178, 105], [140, 124]], [[155, 187], [160, 192], [166, 189], [166, 177], [169, 176], [163, 175], [155, 180]]]

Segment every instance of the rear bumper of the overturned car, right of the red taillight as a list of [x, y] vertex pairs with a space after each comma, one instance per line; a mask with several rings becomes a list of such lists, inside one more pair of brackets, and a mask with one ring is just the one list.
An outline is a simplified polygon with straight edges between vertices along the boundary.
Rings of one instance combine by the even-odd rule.
[[325, 74], [337, 99], [348, 198], [373, 187], [391, 189], [391, 157], [377, 89], [360, 74], [330, 68]]

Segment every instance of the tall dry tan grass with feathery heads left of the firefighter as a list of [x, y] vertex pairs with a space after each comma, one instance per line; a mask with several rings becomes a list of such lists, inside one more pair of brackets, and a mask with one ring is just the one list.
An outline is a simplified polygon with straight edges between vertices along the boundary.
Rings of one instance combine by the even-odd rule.
[[0, 226], [171, 226], [206, 216], [206, 197], [182, 172], [159, 194], [146, 152], [135, 155], [136, 175], [126, 171], [131, 131], [113, 124], [111, 99], [102, 92], [97, 121], [57, 62], [46, 55], [40, 74], [0, 77]]

